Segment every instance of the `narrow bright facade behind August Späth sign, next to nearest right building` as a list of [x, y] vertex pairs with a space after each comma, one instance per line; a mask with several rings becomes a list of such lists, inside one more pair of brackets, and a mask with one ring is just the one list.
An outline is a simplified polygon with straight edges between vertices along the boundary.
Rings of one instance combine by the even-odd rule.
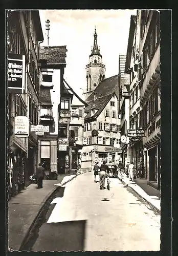
[[[140, 119], [141, 104], [140, 104], [140, 88], [139, 88], [139, 73], [136, 59], [136, 49], [139, 48], [140, 41], [140, 26], [137, 25], [137, 16], [131, 15], [129, 38], [127, 46], [127, 55], [125, 63], [125, 73], [129, 74], [129, 130], [143, 129]], [[137, 40], [136, 40], [137, 39]], [[140, 67], [139, 67], [140, 68]], [[141, 177], [146, 178], [146, 172], [143, 172], [143, 138], [134, 136], [129, 138], [129, 161], [133, 161], [137, 172], [141, 171]]]

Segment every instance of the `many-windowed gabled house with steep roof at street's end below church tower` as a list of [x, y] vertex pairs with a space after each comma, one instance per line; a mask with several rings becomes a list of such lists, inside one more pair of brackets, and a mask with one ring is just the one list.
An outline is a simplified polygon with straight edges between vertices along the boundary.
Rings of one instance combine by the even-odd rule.
[[91, 170], [95, 161], [112, 163], [121, 158], [118, 75], [100, 81], [86, 103], [81, 167]]

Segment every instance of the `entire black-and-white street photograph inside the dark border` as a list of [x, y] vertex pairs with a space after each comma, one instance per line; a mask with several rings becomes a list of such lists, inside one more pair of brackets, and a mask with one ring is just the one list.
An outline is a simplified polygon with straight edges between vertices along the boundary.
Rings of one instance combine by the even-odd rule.
[[160, 251], [160, 11], [6, 24], [9, 251]]

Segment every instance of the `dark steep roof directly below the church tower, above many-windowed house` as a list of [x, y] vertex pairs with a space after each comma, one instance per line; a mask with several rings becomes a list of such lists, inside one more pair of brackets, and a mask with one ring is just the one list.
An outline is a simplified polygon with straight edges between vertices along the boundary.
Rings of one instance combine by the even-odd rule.
[[95, 91], [88, 96], [86, 103], [88, 104], [87, 109], [90, 110], [90, 112], [87, 113], [85, 119], [93, 116], [91, 113], [92, 109], [97, 110], [94, 117], [99, 116], [114, 93], [118, 97], [118, 75], [102, 80]]

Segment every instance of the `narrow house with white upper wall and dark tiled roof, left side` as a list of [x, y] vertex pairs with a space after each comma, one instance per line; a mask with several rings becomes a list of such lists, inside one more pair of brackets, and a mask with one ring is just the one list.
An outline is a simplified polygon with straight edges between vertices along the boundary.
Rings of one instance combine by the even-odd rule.
[[58, 132], [60, 95], [63, 93], [63, 74], [66, 66], [66, 46], [41, 47], [39, 124], [49, 126], [49, 132], [38, 135], [38, 163], [46, 170], [58, 172]]

